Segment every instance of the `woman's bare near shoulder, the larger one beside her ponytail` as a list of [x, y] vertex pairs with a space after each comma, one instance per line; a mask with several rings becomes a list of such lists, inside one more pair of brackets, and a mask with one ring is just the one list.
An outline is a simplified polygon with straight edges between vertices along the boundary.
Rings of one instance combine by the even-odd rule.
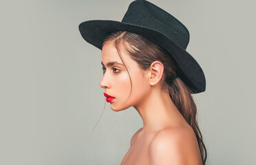
[[154, 164], [202, 164], [195, 133], [191, 128], [169, 128], [159, 131], [149, 146]]

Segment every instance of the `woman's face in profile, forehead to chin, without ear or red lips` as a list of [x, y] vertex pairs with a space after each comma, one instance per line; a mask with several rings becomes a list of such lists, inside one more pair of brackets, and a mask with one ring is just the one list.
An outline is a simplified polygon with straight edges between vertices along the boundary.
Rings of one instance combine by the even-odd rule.
[[[115, 99], [110, 102], [113, 111], [121, 111], [131, 106], [136, 106], [149, 94], [150, 85], [147, 80], [147, 72], [140, 69], [138, 63], [129, 54], [122, 51], [120, 44], [120, 55], [131, 76], [131, 82], [127, 69], [122, 63], [113, 41], [107, 41], [102, 49], [103, 79], [100, 87], [105, 93]], [[117, 63], [112, 63], [112, 62]], [[113, 65], [107, 65], [107, 64]], [[118, 64], [120, 63], [120, 64]], [[131, 90], [132, 83], [132, 90]], [[131, 96], [129, 94], [131, 92]]]

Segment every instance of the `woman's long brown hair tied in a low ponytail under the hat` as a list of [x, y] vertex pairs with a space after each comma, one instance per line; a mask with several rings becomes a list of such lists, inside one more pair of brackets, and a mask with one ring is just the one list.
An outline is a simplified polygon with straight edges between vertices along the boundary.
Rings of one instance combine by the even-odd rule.
[[[125, 43], [123, 44], [125, 46], [125, 51], [131, 55], [131, 58], [133, 58], [134, 61], [138, 63], [141, 69], [148, 69], [153, 61], [160, 61], [162, 65], [164, 65], [163, 78], [160, 81], [162, 90], [169, 91], [171, 100], [173, 100], [175, 106], [178, 108], [186, 122], [188, 122], [188, 124], [195, 132], [204, 165], [206, 162], [207, 153], [206, 147], [202, 140], [202, 133], [200, 132], [198, 122], [196, 120], [197, 108], [193, 97], [191, 96], [194, 91], [193, 89], [186, 86], [186, 84], [184, 84], [180, 78], [172, 80], [172, 78], [176, 76], [178, 69], [177, 64], [173, 58], [171, 58], [169, 53], [158, 46], [156, 43], [153, 43], [148, 39], [145, 39], [145, 37], [131, 32], [112, 32], [105, 38], [103, 45], [107, 41], [114, 41], [114, 45], [116, 50], [118, 50], [119, 56], [120, 43]], [[124, 63], [121, 56], [120, 59]]]

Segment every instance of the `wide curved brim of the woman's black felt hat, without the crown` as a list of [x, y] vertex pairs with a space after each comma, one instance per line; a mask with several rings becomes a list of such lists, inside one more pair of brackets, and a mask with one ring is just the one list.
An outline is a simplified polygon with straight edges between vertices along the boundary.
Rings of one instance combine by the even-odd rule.
[[127, 31], [140, 34], [169, 52], [178, 64], [178, 76], [193, 89], [194, 94], [205, 91], [206, 80], [198, 62], [186, 50], [157, 30], [111, 20], [85, 21], [78, 28], [83, 39], [100, 50], [105, 37], [111, 32]]

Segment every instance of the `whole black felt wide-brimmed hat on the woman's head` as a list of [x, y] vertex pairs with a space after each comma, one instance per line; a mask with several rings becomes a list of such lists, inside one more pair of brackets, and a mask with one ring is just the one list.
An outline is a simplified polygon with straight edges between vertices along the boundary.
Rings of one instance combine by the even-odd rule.
[[105, 37], [114, 31], [133, 32], [158, 44], [178, 65], [177, 76], [193, 89], [194, 94], [205, 91], [204, 72], [197, 61], [186, 52], [189, 31], [171, 14], [149, 1], [131, 2], [122, 21], [91, 20], [79, 25], [83, 39], [102, 49]]

